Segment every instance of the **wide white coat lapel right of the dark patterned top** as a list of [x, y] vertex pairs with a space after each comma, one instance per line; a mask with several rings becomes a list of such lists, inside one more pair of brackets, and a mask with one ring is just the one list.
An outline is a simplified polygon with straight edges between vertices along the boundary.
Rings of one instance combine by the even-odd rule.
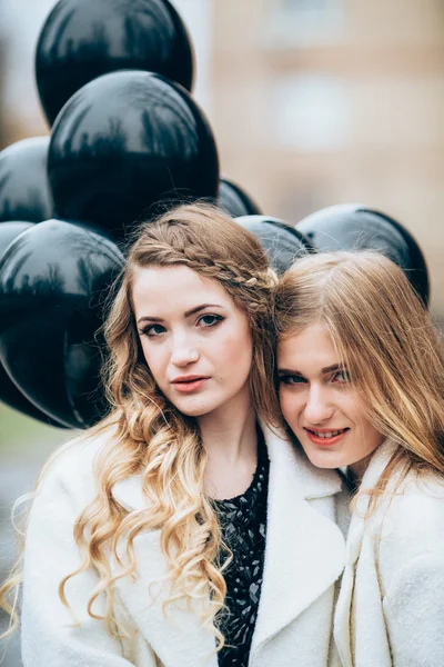
[[[264, 577], [252, 653], [316, 600], [340, 577], [344, 537], [334, 524], [334, 470], [316, 469], [304, 455], [264, 429], [270, 457]], [[324, 498], [327, 518], [311, 505]], [[329, 502], [330, 500], [330, 502]]]

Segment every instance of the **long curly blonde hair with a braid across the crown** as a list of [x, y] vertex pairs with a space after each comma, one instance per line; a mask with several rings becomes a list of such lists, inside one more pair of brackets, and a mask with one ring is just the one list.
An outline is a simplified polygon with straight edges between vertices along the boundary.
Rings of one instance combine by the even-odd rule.
[[[205, 450], [196, 419], [179, 412], [157, 387], [142, 354], [132, 303], [135, 271], [175, 265], [221, 282], [246, 315], [253, 338], [253, 407], [270, 425], [276, 415], [278, 401], [269, 390], [274, 367], [276, 277], [259, 241], [205, 203], [182, 206], [144, 223], [128, 252], [104, 325], [109, 348], [104, 386], [110, 415], [87, 431], [90, 437], [112, 427], [115, 437], [110, 438], [95, 461], [98, 494], [74, 526], [82, 565], [61, 581], [59, 595], [69, 606], [67, 581], [94, 567], [101, 580], [91, 593], [88, 613], [93, 618], [104, 618], [109, 633], [115, 635], [113, 584], [119, 578], [137, 576], [135, 537], [142, 530], [160, 529], [171, 584], [167, 603], [200, 601], [202, 621], [215, 634], [220, 649], [224, 640], [214, 617], [223, 607], [226, 591], [222, 574], [224, 547], [214, 508], [204, 494]], [[147, 508], [128, 512], [113, 499], [111, 489], [134, 474], [142, 476]], [[122, 541], [123, 558], [117, 551]], [[112, 575], [107, 552], [120, 564], [118, 575]], [[0, 589], [2, 607], [12, 614], [13, 605], [8, 605], [7, 597], [19, 578], [17, 575]], [[107, 610], [104, 617], [99, 617], [92, 605], [103, 593]]]

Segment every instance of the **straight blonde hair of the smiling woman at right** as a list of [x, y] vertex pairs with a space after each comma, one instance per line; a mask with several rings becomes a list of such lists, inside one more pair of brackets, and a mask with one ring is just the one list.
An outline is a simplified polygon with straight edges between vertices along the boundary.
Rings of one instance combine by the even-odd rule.
[[325, 252], [297, 260], [276, 290], [284, 338], [322, 322], [369, 420], [395, 449], [370, 491], [370, 511], [393, 472], [444, 475], [444, 371], [440, 336], [402, 270], [371, 251]]

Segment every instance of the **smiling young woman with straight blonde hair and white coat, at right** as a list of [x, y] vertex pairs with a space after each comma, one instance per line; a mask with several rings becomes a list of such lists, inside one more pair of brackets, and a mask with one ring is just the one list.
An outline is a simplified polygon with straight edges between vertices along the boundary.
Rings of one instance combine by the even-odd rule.
[[427, 311], [372, 252], [297, 261], [276, 293], [282, 411], [356, 491], [335, 611], [344, 667], [444, 664], [444, 370]]

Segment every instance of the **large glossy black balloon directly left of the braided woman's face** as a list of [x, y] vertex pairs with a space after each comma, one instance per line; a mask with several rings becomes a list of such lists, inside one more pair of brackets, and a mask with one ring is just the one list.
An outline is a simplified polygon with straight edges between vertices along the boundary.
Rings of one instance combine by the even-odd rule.
[[65, 426], [103, 415], [94, 334], [122, 263], [104, 235], [60, 220], [24, 231], [0, 261], [0, 358], [24, 396]]

